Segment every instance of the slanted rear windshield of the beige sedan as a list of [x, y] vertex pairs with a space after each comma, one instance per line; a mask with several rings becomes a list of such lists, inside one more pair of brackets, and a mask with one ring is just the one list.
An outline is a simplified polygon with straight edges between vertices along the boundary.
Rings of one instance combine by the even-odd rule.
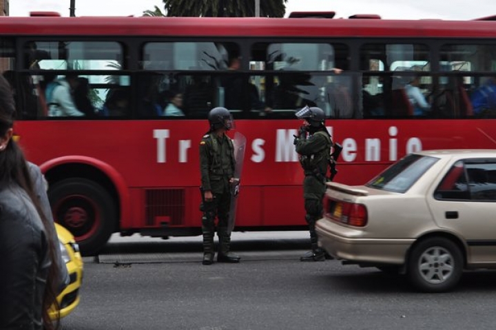
[[439, 158], [409, 154], [375, 176], [367, 187], [406, 192]]

